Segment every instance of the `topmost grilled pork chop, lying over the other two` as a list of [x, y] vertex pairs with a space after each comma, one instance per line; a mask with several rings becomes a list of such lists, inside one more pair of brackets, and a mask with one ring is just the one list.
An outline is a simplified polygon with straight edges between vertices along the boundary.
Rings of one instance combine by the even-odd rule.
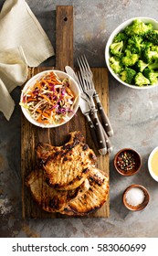
[[91, 167], [97, 160], [80, 132], [69, 135], [70, 140], [67, 144], [51, 146], [48, 150], [44, 150], [40, 145], [37, 150], [37, 158], [41, 157], [44, 163], [47, 184], [59, 190], [79, 187], [89, 176]]

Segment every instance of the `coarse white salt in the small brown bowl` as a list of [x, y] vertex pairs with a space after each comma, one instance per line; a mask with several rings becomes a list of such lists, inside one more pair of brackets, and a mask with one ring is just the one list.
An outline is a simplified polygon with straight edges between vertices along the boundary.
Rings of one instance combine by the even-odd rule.
[[140, 204], [142, 204], [144, 200], [144, 193], [142, 189], [138, 187], [132, 187], [130, 190], [126, 193], [126, 202], [131, 205], [132, 207], [136, 207]]

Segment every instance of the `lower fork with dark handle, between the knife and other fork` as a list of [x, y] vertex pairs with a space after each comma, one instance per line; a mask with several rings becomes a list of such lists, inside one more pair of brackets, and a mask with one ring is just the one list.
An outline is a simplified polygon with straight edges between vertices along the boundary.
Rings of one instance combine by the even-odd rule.
[[105, 155], [105, 152], [107, 152], [107, 145], [104, 139], [104, 134], [102, 132], [101, 129], [101, 125], [100, 125], [100, 121], [97, 115], [97, 110], [95, 108], [95, 104], [93, 101], [91, 101], [92, 97], [93, 97], [93, 89], [90, 89], [90, 82], [89, 80], [84, 80], [82, 78], [82, 73], [80, 72], [80, 76], [79, 76], [79, 84], [80, 87], [82, 88], [82, 91], [84, 91], [86, 93], [86, 95], [88, 95], [90, 97], [90, 103], [91, 103], [91, 113], [92, 116], [94, 118], [94, 127], [96, 129], [96, 136], [97, 136], [97, 141], [98, 141], [98, 145], [99, 145], [99, 152], [101, 155]]

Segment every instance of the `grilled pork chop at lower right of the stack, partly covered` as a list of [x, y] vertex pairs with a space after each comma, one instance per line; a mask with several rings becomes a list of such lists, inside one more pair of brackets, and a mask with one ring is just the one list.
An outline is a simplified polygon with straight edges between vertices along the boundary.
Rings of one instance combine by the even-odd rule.
[[98, 208], [106, 201], [109, 195], [109, 179], [99, 169], [92, 168], [89, 176], [90, 188], [60, 211], [62, 214], [84, 216]]

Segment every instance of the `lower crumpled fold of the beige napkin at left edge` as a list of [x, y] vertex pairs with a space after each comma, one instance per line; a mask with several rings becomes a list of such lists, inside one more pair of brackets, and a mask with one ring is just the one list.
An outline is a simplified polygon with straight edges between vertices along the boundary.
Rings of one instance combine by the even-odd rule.
[[0, 51], [0, 111], [9, 120], [15, 108], [10, 93], [27, 78], [27, 65], [23, 49], [10, 48]]

